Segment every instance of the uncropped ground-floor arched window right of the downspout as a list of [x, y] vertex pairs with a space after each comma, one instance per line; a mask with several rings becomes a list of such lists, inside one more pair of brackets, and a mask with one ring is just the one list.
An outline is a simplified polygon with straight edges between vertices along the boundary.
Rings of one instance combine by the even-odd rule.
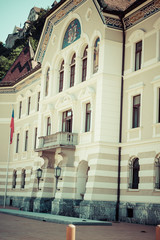
[[131, 189], [138, 189], [139, 169], [139, 159], [134, 158], [129, 164], [129, 188]]

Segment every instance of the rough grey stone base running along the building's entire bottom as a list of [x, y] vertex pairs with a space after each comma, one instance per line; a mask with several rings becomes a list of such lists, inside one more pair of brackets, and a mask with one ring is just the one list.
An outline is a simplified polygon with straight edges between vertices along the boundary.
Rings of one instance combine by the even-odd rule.
[[[3, 196], [0, 196], [0, 205], [4, 205]], [[5, 205], [17, 207], [23, 211], [103, 221], [115, 221], [116, 215], [116, 202], [111, 201], [7, 196]], [[160, 223], [160, 204], [121, 202], [119, 207], [120, 221], [146, 225], [158, 225]]]

